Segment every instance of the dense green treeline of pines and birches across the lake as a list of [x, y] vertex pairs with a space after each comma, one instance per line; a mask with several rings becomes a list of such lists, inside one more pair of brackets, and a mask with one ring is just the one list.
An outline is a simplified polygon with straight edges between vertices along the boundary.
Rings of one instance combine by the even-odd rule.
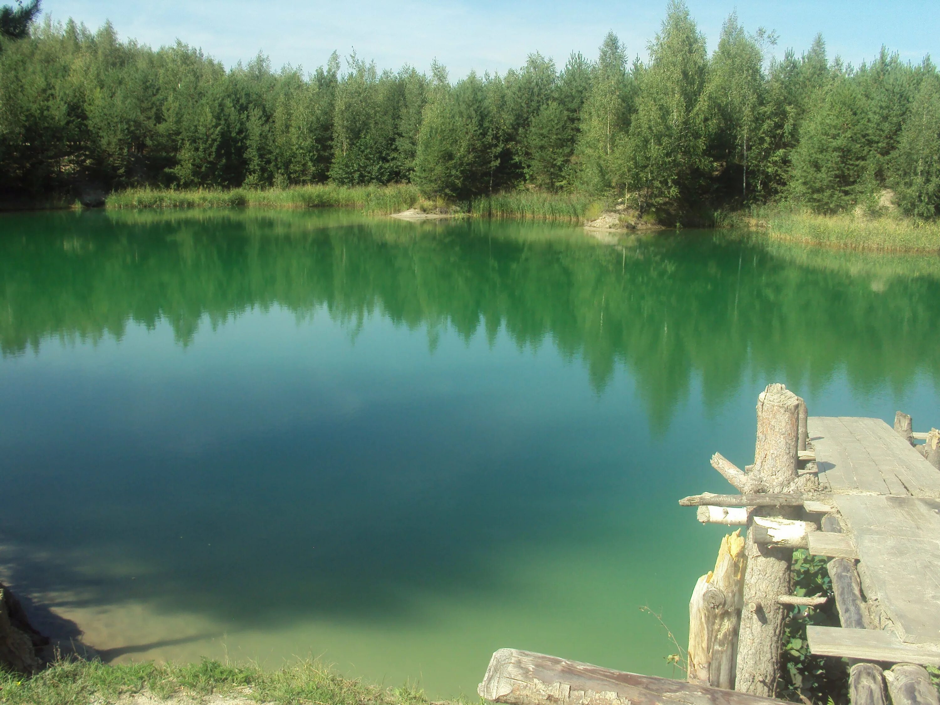
[[540, 54], [452, 83], [332, 55], [305, 73], [263, 56], [226, 70], [69, 22], [2, 39], [0, 189], [411, 181], [468, 201], [521, 187], [624, 196], [689, 217], [789, 198], [821, 212], [940, 207], [940, 75], [882, 50], [854, 68], [731, 15], [709, 55], [672, 0], [645, 61], [613, 33], [596, 60]]

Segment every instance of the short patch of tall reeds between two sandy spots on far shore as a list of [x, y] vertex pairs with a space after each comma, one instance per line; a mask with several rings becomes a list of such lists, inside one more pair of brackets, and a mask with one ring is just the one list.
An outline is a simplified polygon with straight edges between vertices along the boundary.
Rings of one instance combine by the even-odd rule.
[[470, 214], [478, 218], [516, 218], [581, 223], [593, 220], [610, 204], [596, 196], [552, 194], [543, 191], [506, 191], [477, 196]]

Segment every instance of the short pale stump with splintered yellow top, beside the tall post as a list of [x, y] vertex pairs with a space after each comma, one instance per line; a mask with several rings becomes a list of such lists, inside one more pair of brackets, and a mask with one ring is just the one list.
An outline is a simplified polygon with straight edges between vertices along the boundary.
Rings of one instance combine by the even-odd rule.
[[721, 540], [714, 571], [698, 578], [689, 601], [688, 681], [734, 689], [744, 591], [744, 539]]

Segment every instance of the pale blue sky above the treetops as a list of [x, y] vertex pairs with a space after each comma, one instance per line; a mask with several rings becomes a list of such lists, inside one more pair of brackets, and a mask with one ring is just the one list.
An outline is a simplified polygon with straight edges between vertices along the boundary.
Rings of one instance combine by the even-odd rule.
[[[822, 32], [830, 56], [854, 64], [877, 54], [882, 44], [919, 61], [940, 55], [940, 3], [799, 0], [747, 2], [688, 0], [699, 27], [714, 47], [721, 24], [737, 8], [749, 30], [776, 30], [777, 52], [799, 54]], [[226, 66], [263, 52], [274, 67], [290, 63], [306, 70], [336, 49], [375, 59], [380, 68], [410, 63], [427, 69], [437, 58], [451, 78], [477, 71], [506, 71], [534, 51], [564, 64], [572, 50], [597, 54], [613, 29], [630, 55], [646, 56], [646, 44], [666, 11], [653, 2], [246, 2], [234, 0], [44, 0], [55, 20], [73, 17], [97, 27], [110, 19], [122, 38], [154, 47], [177, 38], [201, 47]]]

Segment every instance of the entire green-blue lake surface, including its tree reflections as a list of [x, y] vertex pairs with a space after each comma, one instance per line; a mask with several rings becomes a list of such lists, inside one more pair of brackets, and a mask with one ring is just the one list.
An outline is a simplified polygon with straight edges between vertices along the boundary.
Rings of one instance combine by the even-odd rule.
[[109, 660], [500, 647], [670, 675], [676, 500], [813, 415], [940, 425], [940, 260], [344, 211], [0, 216], [0, 563]]

